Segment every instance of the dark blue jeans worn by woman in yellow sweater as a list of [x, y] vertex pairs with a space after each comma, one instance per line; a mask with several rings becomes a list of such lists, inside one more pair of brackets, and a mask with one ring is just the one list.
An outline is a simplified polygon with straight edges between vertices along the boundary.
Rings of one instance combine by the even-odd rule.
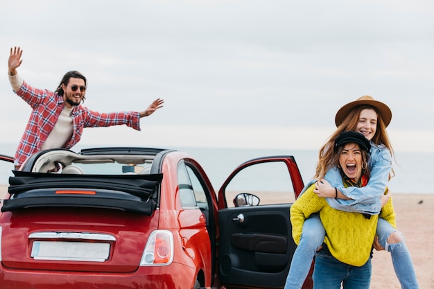
[[315, 257], [313, 289], [369, 289], [371, 283], [371, 259], [356, 267], [338, 261], [321, 250]]

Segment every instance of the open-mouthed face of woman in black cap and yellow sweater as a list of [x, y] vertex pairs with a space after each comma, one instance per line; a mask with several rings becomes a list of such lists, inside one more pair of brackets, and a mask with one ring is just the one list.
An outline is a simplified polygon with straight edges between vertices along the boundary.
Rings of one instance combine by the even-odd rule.
[[358, 143], [345, 143], [339, 155], [339, 165], [350, 179], [358, 182], [362, 176], [362, 152]]

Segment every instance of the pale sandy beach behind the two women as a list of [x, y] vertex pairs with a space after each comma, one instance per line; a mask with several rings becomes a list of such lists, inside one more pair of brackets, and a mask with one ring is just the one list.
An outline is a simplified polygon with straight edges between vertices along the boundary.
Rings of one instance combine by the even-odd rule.
[[[3, 197], [5, 185], [0, 185]], [[406, 243], [413, 258], [420, 289], [434, 289], [434, 194], [392, 195], [397, 227], [406, 236]], [[390, 253], [374, 251], [372, 259], [372, 289], [401, 288], [394, 274]]]

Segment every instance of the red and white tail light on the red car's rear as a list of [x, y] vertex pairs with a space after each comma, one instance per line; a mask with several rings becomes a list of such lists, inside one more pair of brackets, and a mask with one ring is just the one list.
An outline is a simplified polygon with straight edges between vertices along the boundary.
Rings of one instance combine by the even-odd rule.
[[173, 234], [167, 230], [153, 231], [141, 257], [141, 266], [169, 265], [173, 261]]

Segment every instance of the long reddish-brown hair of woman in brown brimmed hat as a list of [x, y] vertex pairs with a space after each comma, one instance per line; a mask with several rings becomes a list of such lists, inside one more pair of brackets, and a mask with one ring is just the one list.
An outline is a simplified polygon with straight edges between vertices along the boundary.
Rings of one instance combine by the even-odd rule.
[[[354, 107], [351, 112], [347, 115], [347, 117], [342, 121], [342, 123], [338, 126], [338, 128], [331, 134], [326, 143], [320, 148], [319, 160], [315, 169], [315, 178], [320, 179], [324, 177], [327, 173], [327, 170], [336, 166], [336, 160], [334, 159], [334, 148], [335, 148], [335, 139], [341, 132], [348, 132], [350, 130], [355, 131], [357, 128], [358, 120], [360, 119], [360, 114], [362, 110], [370, 109], [374, 110], [377, 115], [376, 122], [376, 132], [374, 137], [371, 139], [371, 142], [376, 144], [376, 146], [385, 146], [390, 151], [390, 155], [394, 158], [394, 152], [392, 148], [392, 144], [390, 143], [388, 133], [385, 130], [385, 125], [383, 118], [378, 110], [371, 105], [358, 105]], [[389, 179], [394, 176], [393, 168], [390, 170]]]

